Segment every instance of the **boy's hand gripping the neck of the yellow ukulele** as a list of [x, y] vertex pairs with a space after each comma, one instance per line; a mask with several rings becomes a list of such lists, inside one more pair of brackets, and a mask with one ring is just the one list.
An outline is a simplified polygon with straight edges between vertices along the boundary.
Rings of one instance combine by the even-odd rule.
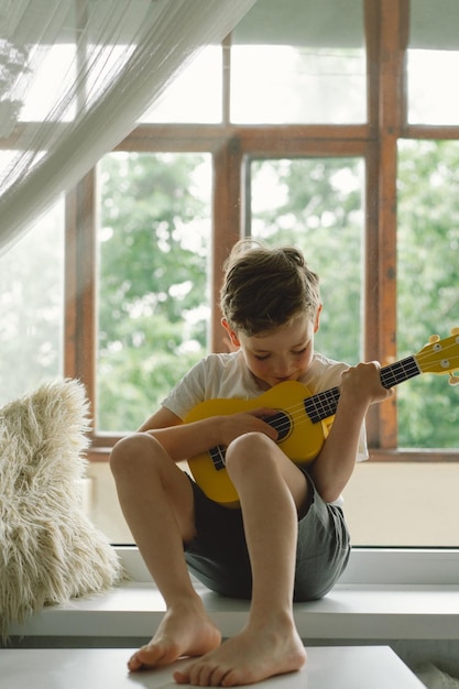
[[352, 404], [369, 406], [391, 397], [392, 389], [381, 383], [381, 365], [378, 361], [359, 363], [341, 374], [340, 396]]

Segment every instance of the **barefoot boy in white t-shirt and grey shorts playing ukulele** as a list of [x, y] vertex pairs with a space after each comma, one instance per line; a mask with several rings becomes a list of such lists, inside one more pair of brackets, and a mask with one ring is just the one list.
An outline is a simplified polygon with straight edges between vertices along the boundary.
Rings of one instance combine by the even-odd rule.
[[[350, 545], [340, 494], [358, 455], [365, 457], [368, 407], [391, 393], [376, 362], [348, 368], [314, 351], [318, 277], [295, 248], [239, 242], [227, 264], [221, 310], [236, 351], [194, 367], [140, 431], [116, 445], [111, 468], [125, 518], [166, 603], [154, 637], [129, 669], [200, 656], [174, 672], [175, 680], [231, 687], [304, 665], [293, 601], [325, 595], [346, 567]], [[276, 430], [263, 420], [273, 409], [182, 423], [204, 400], [252, 398], [287, 380], [313, 393], [340, 385], [331, 430], [305, 467], [276, 445]], [[238, 508], [209, 500], [176, 466], [218, 445], [226, 447]], [[251, 599], [247, 625], [223, 644], [188, 568], [223, 595]]]

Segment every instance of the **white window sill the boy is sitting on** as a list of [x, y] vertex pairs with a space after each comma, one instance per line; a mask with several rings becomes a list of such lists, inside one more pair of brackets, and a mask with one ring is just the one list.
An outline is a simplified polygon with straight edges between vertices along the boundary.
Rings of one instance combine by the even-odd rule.
[[[163, 616], [162, 595], [135, 548], [120, 555], [132, 581], [103, 593], [45, 608], [12, 637], [150, 637]], [[243, 625], [249, 603], [196, 583], [223, 636]], [[356, 550], [347, 572], [320, 601], [295, 604], [305, 643], [459, 639], [459, 553]]]

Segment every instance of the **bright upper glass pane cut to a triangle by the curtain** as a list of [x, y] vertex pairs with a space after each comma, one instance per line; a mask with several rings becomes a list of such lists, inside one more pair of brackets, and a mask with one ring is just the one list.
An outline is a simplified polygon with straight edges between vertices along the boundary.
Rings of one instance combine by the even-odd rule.
[[221, 46], [210, 45], [171, 83], [141, 122], [221, 122]]

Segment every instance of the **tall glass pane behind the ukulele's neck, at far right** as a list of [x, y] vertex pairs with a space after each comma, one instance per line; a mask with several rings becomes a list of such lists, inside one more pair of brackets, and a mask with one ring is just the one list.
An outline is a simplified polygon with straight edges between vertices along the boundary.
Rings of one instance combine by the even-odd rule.
[[[416, 353], [430, 335], [459, 327], [459, 142], [398, 145], [397, 349]], [[419, 375], [397, 389], [398, 446], [457, 448], [459, 389]]]

